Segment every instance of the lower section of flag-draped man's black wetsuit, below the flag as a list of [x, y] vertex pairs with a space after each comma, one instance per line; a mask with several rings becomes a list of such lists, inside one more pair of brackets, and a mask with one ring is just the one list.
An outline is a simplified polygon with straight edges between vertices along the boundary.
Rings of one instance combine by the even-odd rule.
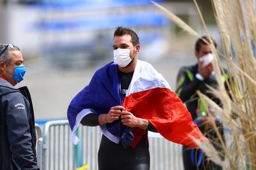
[[99, 170], [149, 170], [150, 156], [147, 133], [141, 138], [136, 148], [124, 148], [102, 135], [98, 152]]

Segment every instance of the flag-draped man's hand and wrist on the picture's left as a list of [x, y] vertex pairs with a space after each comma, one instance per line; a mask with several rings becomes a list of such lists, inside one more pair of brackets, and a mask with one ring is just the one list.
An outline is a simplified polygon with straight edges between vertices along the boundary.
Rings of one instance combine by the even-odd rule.
[[125, 110], [123, 106], [113, 106], [110, 108], [108, 114], [101, 114], [99, 116], [99, 124], [104, 125], [118, 120], [123, 110]]

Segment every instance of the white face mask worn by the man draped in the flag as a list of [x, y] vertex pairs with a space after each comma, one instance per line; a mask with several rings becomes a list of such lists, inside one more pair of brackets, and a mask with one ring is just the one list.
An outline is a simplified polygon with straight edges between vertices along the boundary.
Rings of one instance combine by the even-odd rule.
[[114, 50], [114, 62], [120, 67], [126, 67], [131, 61], [130, 49], [118, 48]]

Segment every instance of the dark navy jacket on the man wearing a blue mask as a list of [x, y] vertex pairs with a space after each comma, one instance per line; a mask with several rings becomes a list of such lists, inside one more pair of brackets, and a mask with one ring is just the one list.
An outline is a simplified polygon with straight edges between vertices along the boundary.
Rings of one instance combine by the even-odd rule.
[[22, 94], [30, 97], [26, 87], [14, 89], [0, 78], [0, 170], [39, 169], [33, 108]]

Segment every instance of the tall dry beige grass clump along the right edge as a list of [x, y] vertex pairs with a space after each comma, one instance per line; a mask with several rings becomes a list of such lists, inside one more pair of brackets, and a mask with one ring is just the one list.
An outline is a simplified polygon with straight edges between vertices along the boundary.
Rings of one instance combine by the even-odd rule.
[[[194, 2], [205, 31], [208, 32], [196, 0]], [[255, 1], [211, 0], [211, 2], [223, 48], [223, 53], [216, 52], [212, 48], [216, 56], [213, 64], [219, 86], [218, 89], [211, 89], [211, 92], [221, 99], [223, 106], [220, 108], [203, 94], [199, 93], [199, 96], [211, 105], [213, 114], [218, 115], [223, 125], [230, 131], [227, 133], [227, 143], [222, 143], [227, 164], [218, 159], [218, 152], [210, 143], [196, 142], [210, 159], [225, 169], [256, 169], [256, 61], [252, 46], [252, 43], [256, 43]], [[198, 37], [196, 31], [173, 13], [157, 3], [154, 4], [177, 25]], [[232, 75], [233, 81], [228, 83], [228, 90], [221, 81], [223, 67], [219, 56], [223, 56], [227, 61], [228, 71]], [[234, 115], [237, 118], [234, 118]]]

